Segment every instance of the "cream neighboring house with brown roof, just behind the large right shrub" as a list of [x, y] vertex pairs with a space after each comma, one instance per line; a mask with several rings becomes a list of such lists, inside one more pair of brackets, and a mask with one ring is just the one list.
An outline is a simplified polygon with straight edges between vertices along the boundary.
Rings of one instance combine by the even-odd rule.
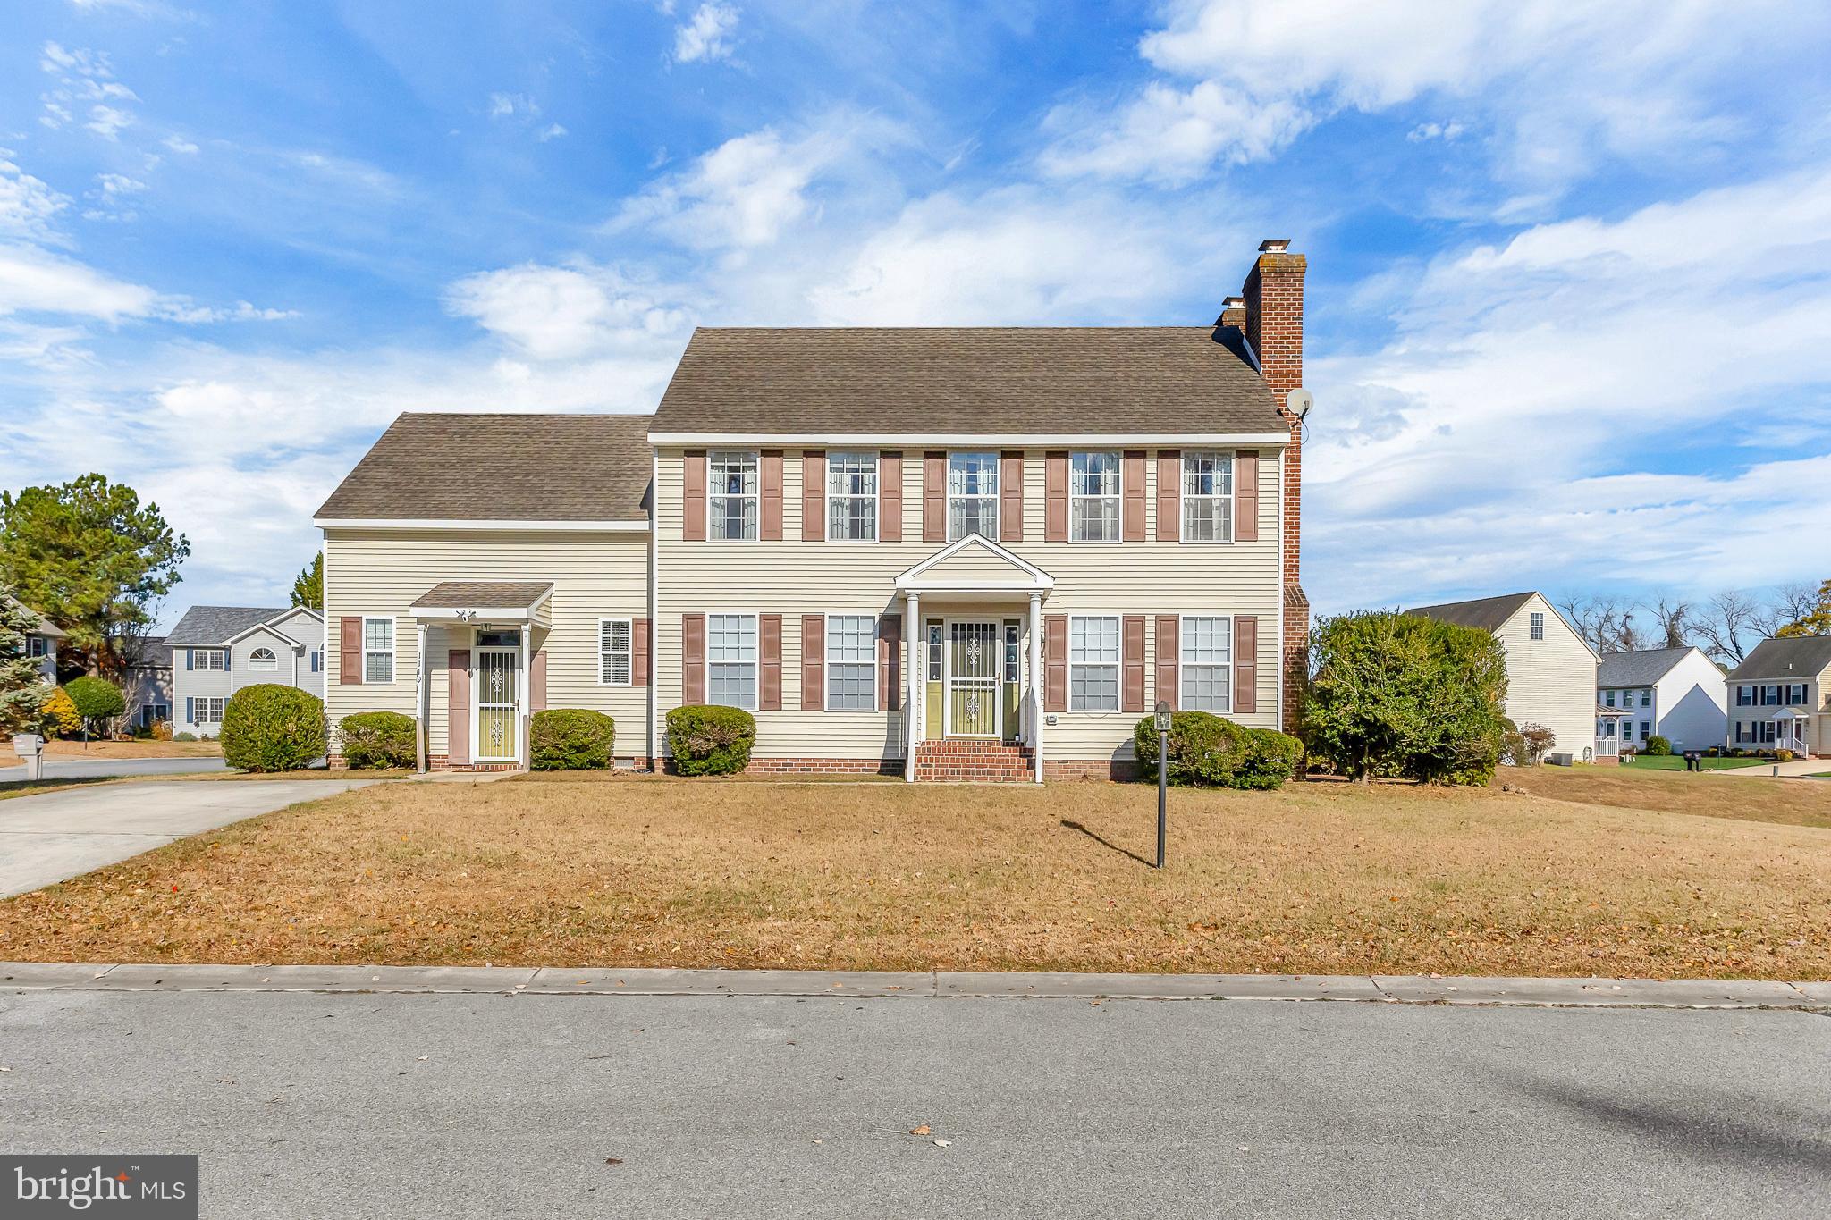
[[1538, 593], [1445, 602], [1406, 611], [1490, 631], [1507, 651], [1507, 719], [1544, 724], [1551, 754], [1597, 757], [1597, 657], [1589, 642]]

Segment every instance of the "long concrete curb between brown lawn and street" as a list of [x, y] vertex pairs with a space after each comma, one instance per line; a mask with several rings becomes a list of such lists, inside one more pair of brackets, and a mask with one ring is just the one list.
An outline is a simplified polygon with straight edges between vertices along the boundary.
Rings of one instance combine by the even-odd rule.
[[1800, 1008], [1831, 982], [1426, 975], [1069, 975], [551, 966], [150, 966], [0, 962], [7, 991], [348, 991], [397, 995], [793, 995], [839, 999], [1348, 1001], [1525, 1008]]

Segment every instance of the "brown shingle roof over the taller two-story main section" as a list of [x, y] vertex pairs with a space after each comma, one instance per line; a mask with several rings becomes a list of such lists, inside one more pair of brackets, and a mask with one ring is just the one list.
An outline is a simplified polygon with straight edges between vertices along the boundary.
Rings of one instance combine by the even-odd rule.
[[699, 327], [655, 410], [699, 435], [1289, 437], [1208, 326]]

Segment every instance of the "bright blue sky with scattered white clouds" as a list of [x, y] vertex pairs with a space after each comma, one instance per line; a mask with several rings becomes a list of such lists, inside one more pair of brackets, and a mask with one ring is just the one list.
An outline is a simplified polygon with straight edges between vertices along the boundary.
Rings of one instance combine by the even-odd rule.
[[1267, 236], [1311, 260], [1320, 611], [1831, 574], [1824, 5], [7, 24], [0, 487], [156, 499], [167, 620], [284, 602], [401, 410], [650, 410], [696, 324], [1201, 324]]

